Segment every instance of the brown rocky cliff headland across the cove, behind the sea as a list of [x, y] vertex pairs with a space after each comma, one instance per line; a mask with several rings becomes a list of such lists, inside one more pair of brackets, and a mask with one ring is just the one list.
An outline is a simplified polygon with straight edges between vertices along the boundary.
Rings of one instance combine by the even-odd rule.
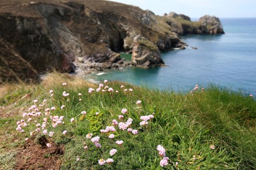
[[[1, 1], [0, 83], [38, 80], [40, 73], [52, 69], [161, 66], [160, 52], [185, 47], [178, 34], [223, 33], [214, 27], [216, 22], [221, 26], [218, 19], [193, 23], [176, 15], [160, 17], [101, 0]], [[119, 52], [132, 53], [132, 61], [121, 59]]]

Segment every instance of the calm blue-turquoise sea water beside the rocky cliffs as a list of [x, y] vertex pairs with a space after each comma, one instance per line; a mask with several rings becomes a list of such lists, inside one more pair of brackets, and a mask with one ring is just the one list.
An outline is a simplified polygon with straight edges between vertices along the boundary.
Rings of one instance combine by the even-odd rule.
[[[127, 68], [87, 79], [122, 80], [150, 88], [190, 91], [215, 83], [256, 96], [256, 18], [223, 18], [217, 36], [183, 36], [186, 50], [162, 53], [168, 68]], [[197, 47], [193, 50], [191, 47]]]

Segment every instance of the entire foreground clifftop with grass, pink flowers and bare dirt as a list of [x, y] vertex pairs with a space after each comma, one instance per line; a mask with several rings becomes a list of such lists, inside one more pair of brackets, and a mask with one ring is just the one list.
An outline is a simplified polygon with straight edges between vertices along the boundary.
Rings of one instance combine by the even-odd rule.
[[0, 90], [1, 169], [256, 166], [255, 99], [227, 88], [174, 93], [49, 74]]

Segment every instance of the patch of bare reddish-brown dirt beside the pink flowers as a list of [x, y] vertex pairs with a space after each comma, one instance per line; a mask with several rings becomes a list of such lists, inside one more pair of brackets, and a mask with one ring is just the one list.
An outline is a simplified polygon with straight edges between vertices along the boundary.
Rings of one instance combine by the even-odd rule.
[[48, 148], [29, 140], [18, 152], [15, 169], [60, 169], [59, 157], [63, 152], [63, 146], [52, 144]]

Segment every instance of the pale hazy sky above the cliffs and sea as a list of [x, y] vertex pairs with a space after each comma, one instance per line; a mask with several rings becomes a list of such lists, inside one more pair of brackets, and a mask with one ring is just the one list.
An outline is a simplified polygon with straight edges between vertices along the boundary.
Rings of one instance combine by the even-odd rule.
[[151, 10], [156, 15], [176, 12], [190, 18], [256, 18], [256, 0], [109, 0]]

